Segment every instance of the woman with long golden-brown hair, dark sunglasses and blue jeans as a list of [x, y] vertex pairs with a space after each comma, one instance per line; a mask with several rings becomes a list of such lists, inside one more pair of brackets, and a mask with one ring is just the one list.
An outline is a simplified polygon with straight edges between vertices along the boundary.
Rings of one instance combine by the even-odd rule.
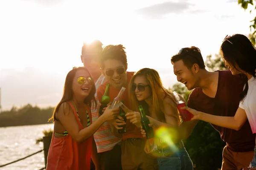
[[[139, 111], [139, 105], [143, 106], [144, 111], [148, 113], [150, 126], [154, 128], [155, 136], [158, 137], [155, 137], [153, 143], [148, 140], [144, 149], [146, 153], [157, 156], [158, 169], [193, 170], [192, 161], [177, 135], [180, 117], [175, 97], [163, 87], [158, 72], [151, 68], [137, 71], [129, 84], [129, 97], [134, 111]], [[139, 116], [131, 122], [140, 122]], [[145, 137], [145, 131], [141, 131]], [[165, 134], [162, 135], [163, 133]], [[171, 140], [166, 140], [166, 137]], [[154, 145], [156, 142], [157, 149], [152, 151], [151, 144]]]

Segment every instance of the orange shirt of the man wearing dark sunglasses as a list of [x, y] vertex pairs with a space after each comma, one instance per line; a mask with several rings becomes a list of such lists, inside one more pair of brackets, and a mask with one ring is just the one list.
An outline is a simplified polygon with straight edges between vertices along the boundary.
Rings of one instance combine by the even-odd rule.
[[[127, 71], [127, 83], [125, 85], [125, 93], [122, 96], [122, 100], [124, 101], [125, 106], [128, 108], [130, 107], [130, 100], [128, 97], [128, 85], [129, 82], [131, 81], [131, 77], [134, 75], [134, 72], [128, 72]], [[99, 102], [101, 102], [102, 96], [105, 93], [106, 86], [109, 82], [106, 81], [104, 82], [99, 88], [97, 89], [97, 96], [99, 99]], [[110, 86], [110, 91], [109, 91], [109, 97], [110, 101], [113, 102], [114, 98], [119, 94], [120, 89], [116, 89], [113, 86]], [[129, 119], [126, 121], [126, 133], [123, 133], [122, 139], [128, 139], [128, 138], [141, 138], [144, 139], [141, 132], [140, 128], [138, 128], [136, 125], [132, 124]]]

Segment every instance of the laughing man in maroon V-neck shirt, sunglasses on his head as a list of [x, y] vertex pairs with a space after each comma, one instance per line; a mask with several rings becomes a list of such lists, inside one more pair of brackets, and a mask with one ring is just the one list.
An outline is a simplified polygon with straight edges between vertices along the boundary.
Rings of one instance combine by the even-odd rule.
[[[229, 70], [209, 72], [199, 48], [182, 48], [171, 59], [177, 81], [182, 82], [192, 93], [188, 107], [218, 116], [235, 116], [239, 107], [239, 95], [243, 91], [244, 79], [233, 76]], [[182, 139], [189, 137], [198, 120], [183, 122], [180, 125]], [[255, 135], [248, 120], [240, 130], [232, 130], [212, 125], [227, 143], [223, 150], [221, 170], [241, 170], [247, 168], [254, 155]], [[196, 147], [196, 146], [195, 146]]]

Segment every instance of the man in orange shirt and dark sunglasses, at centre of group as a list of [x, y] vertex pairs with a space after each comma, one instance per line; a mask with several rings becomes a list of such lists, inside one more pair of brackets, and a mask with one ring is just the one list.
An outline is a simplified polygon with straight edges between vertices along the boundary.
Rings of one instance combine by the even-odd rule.
[[[106, 46], [103, 48], [100, 63], [102, 74], [105, 75], [108, 81], [103, 83], [97, 90], [99, 101], [105, 92], [106, 85], [110, 83], [110, 101], [113, 102], [113, 99], [118, 95], [121, 88], [125, 87], [126, 90], [122, 96], [122, 100], [128, 108], [131, 108], [128, 98], [128, 85], [131, 77], [134, 75], [134, 72], [126, 71], [128, 64], [125, 47], [123, 47], [121, 44]], [[129, 114], [136, 116], [135, 112]], [[109, 122], [110, 126], [108, 127], [112, 130], [115, 136], [119, 137], [119, 140], [113, 140], [111, 143], [111, 149], [113, 148], [112, 150], [116, 151], [119, 149], [120, 152], [119, 157], [112, 155], [110, 156], [111, 159], [113, 159], [111, 161], [113, 165], [112, 169], [119, 170], [115, 167], [115, 165], [121, 161], [122, 168], [120, 169], [122, 170], [137, 170], [138, 168], [154, 170], [153, 158], [148, 158], [149, 156], [144, 152], [145, 139], [140, 132], [140, 128], [132, 124], [128, 117], [126, 123], [123, 121], [123, 119], [121, 119], [116, 119]], [[123, 134], [118, 133], [117, 129], [120, 128], [118, 126], [125, 124], [126, 132]]]

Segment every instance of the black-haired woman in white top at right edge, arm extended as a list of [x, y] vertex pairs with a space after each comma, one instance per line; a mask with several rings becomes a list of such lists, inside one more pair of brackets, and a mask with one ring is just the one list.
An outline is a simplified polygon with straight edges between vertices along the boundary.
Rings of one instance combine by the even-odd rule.
[[[184, 109], [194, 115], [192, 119], [200, 119], [235, 130], [239, 130], [248, 119], [252, 132], [256, 133], [256, 48], [246, 36], [234, 34], [225, 37], [221, 45], [221, 53], [225, 66], [233, 75], [244, 74], [248, 79], [240, 95], [241, 101], [236, 115], [233, 117], [214, 116], [187, 107]], [[253, 161], [248, 167], [251, 170], [256, 169], [256, 148], [254, 150]]]

